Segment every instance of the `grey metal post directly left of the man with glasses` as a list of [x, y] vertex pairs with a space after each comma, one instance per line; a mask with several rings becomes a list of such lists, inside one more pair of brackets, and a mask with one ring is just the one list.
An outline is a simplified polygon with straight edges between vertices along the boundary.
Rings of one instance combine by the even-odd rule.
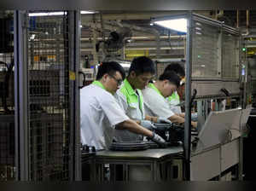
[[74, 79], [70, 79], [70, 128], [73, 130], [73, 136], [70, 140], [73, 142], [73, 180], [81, 180], [81, 151], [80, 151], [80, 95], [79, 95], [79, 67], [80, 67], [80, 37], [81, 37], [81, 19], [80, 11], [68, 11], [69, 16], [69, 58], [70, 72], [75, 74]]

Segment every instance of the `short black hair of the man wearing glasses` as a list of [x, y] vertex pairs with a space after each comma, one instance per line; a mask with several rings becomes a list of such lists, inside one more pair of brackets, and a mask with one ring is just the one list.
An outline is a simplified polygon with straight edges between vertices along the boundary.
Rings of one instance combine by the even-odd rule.
[[125, 70], [121, 65], [119, 65], [118, 62], [116, 61], [102, 62], [100, 67], [98, 67], [96, 80], [101, 79], [102, 76], [106, 73], [110, 75], [114, 75], [115, 72], [120, 72], [122, 75], [122, 78], [125, 79]]

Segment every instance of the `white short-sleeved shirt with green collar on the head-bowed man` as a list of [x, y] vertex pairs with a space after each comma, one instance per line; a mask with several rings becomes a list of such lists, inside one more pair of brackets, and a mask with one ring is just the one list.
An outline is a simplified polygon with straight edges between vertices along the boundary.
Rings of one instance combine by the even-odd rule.
[[143, 99], [145, 105], [145, 113], [151, 116], [162, 117], [168, 119], [174, 115], [169, 102], [160, 94], [154, 84], [148, 84], [148, 87], [143, 90]]

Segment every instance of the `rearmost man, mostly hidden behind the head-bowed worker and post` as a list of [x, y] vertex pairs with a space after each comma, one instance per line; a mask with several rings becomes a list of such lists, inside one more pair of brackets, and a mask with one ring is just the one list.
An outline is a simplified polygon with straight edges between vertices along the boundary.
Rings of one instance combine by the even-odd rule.
[[[171, 96], [168, 96], [166, 100], [169, 102], [172, 112], [184, 118], [185, 113], [182, 113], [180, 100], [181, 100], [181, 96], [184, 95], [185, 70], [179, 63], [172, 63], [166, 67], [164, 72], [167, 72], [167, 71], [172, 71], [177, 74], [177, 76], [180, 78], [180, 86], [176, 91], [173, 92]], [[197, 121], [197, 113], [191, 113], [191, 119], [193, 121]]]

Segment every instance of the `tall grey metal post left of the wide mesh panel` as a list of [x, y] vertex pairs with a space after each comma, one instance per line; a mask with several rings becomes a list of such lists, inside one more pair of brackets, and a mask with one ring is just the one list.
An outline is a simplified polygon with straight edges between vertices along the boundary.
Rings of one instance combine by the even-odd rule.
[[15, 166], [16, 180], [29, 180], [26, 12], [15, 11]]

